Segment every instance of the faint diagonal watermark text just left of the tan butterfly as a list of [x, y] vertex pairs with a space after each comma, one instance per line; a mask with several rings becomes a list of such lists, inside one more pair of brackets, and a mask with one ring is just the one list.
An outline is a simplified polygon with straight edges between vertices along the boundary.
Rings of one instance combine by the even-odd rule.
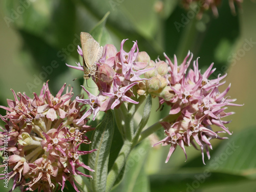
[[[80, 42], [80, 36], [75, 34], [75, 38], [72, 43], [68, 44], [67, 47], [63, 47], [61, 51], [58, 51], [56, 56], [60, 58], [61, 61], [65, 61], [67, 57], [77, 49], [77, 44]], [[41, 86], [42, 83], [47, 80], [47, 77], [53, 73], [53, 70], [58, 68], [59, 63], [56, 60], [51, 61], [50, 65], [42, 66], [42, 71], [39, 75], [33, 75], [34, 80], [33, 83], [27, 82], [27, 87], [29, 91], [32, 93], [34, 88], [37, 86]]]

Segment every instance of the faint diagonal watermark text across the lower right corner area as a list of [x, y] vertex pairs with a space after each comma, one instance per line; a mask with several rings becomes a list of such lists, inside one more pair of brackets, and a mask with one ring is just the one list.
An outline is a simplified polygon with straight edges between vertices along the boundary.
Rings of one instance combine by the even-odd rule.
[[185, 191], [194, 192], [196, 189], [198, 189], [200, 185], [204, 183], [208, 177], [211, 176], [211, 172], [217, 170], [219, 166], [227, 160], [228, 156], [232, 155], [238, 148], [239, 146], [236, 146], [234, 142], [229, 142], [224, 152], [222, 152], [218, 157], [215, 157], [214, 159], [209, 161], [209, 165], [211, 167], [210, 169], [205, 169], [203, 173], [195, 175], [195, 180], [193, 182], [186, 183]]

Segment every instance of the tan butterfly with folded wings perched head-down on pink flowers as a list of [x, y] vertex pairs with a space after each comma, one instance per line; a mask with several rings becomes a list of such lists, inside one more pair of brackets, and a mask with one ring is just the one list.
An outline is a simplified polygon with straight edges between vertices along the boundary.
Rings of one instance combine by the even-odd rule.
[[89, 79], [97, 71], [96, 62], [101, 58], [103, 49], [89, 33], [81, 32], [80, 40], [83, 54], [83, 78]]

